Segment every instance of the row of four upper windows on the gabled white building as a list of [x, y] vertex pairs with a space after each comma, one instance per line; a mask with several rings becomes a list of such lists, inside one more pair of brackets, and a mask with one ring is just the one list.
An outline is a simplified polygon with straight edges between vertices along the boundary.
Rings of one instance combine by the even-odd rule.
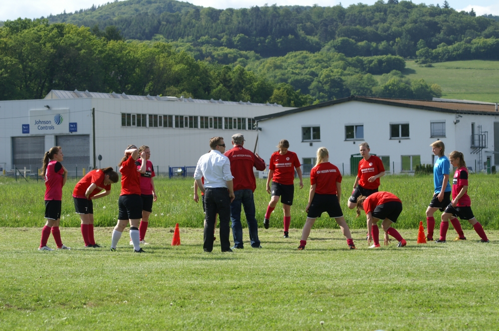
[[[431, 138], [445, 138], [445, 121], [431, 121]], [[409, 123], [390, 124], [390, 139], [409, 139]], [[345, 125], [345, 140], [364, 139], [364, 125]], [[320, 127], [302, 127], [301, 141], [320, 141]]]

